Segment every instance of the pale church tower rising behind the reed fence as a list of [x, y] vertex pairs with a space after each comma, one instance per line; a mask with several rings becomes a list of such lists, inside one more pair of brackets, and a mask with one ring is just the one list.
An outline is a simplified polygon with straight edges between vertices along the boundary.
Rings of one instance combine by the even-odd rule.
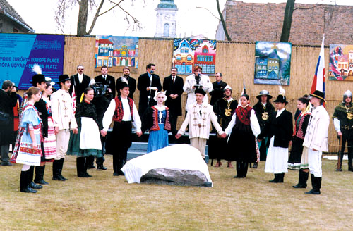
[[177, 5], [174, 0], [160, 0], [157, 8], [155, 37], [177, 37]]

